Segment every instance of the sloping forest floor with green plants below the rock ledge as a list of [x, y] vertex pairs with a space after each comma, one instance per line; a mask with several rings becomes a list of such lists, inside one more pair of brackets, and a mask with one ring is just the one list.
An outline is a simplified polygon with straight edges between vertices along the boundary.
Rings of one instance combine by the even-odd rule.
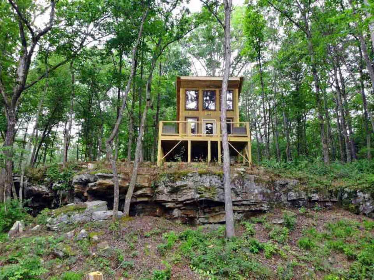
[[[60, 232], [32, 226], [0, 242], [0, 279], [75, 280], [92, 271], [105, 279], [154, 280], [374, 276], [374, 221], [339, 208], [276, 208], [237, 223], [230, 241], [224, 225], [188, 226], [157, 217], [67, 225]], [[89, 237], [78, 241], [82, 228]], [[75, 237], [68, 238], [72, 230]]]

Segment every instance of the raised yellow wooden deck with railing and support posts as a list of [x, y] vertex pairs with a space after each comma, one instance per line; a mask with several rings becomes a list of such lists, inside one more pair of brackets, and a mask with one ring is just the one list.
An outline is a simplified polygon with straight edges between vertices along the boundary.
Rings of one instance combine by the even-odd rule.
[[[249, 122], [228, 122], [229, 146], [243, 162], [252, 163], [251, 131]], [[196, 142], [195, 142], [196, 141]], [[187, 162], [191, 162], [191, 145], [207, 142], [206, 161], [211, 162], [212, 143], [217, 147], [217, 161], [221, 163], [221, 124], [217, 121], [160, 121], [158, 137], [157, 165], [162, 165], [174, 149], [187, 142]], [[168, 148], [166, 149], [166, 146]], [[163, 149], [165, 148], [165, 150]], [[200, 147], [200, 149], [204, 149]], [[232, 153], [230, 153], [231, 155]]]

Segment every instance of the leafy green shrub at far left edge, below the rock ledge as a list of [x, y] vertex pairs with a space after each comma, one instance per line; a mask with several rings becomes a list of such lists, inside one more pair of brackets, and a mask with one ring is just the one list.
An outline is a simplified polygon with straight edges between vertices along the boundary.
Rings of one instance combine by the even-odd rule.
[[29, 210], [27, 207], [19, 206], [19, 201], [16, 199], [7, 200], [5, 205], [0, 203], [0, 232], [10, 230], [15, 221], [30, 220], [27, 213]]

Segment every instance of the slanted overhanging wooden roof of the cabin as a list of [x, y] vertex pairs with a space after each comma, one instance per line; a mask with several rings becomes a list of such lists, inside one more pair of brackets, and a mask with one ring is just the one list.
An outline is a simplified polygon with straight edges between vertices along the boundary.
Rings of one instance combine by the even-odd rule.
[[[175, 86], [177, 88], [177, 119], [179, 120], [179, 100], [180, 100], [180, 88], [221, 88], [223, 77], [209, 77], [209, 76], [178, 76]], [[229, 88], [239, 88], [242, 91], [243, 77], [230, 77]]]

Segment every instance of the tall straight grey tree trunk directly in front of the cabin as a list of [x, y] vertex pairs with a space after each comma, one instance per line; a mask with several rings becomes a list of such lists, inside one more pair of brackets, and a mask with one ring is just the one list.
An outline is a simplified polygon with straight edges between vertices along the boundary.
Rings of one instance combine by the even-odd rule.
[[[227, 135], [226, 125], [226, 106], [227, 106], [227, 86], [229, 84], [230, 64], [231, 64], [231, 34], [230, 34], [230, 18], [231, 18], [231, 0], [224, 0], [225, 10], [225, 68], [222, 78], [222, 94], [221, 94], [221, 134], [223, 147], [223, 181], [225, 189], [225, 220], [226, 220], [226, 237], [235, 236], [234, 228], [234, 212], [231, 194], [231, 178], [230, 178], [230, 150], [229, 137]], [[266, 123], [265, 123], [266, 125]], [[219, 143], [218, 143], [219, 144]], [[267, 147], [268, 148], [268, 147]], [[269, 152], [269, 150], [267, 150]]]

